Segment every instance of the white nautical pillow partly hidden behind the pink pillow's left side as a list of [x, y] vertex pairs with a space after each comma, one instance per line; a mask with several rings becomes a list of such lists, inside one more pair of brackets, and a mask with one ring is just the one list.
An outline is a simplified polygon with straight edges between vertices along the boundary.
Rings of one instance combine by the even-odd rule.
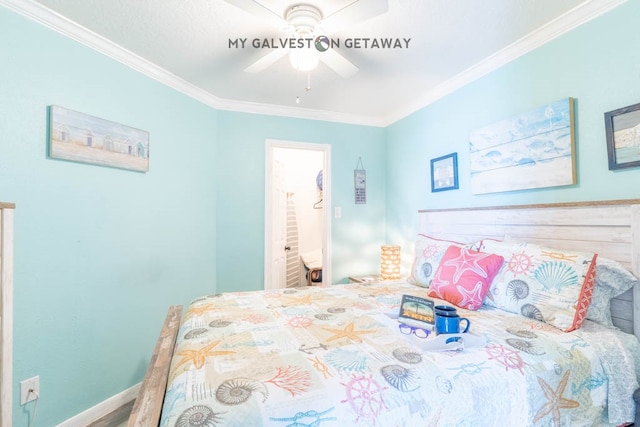
[[442, 256], [451, 245], [463, 246], [463, 243], [418, 234], [409, 283], [429, 287]]

